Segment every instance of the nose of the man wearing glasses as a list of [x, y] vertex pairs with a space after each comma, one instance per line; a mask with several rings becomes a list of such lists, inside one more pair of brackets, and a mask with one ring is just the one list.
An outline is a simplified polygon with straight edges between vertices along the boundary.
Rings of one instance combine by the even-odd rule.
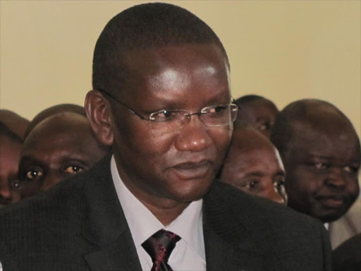
[[189, 116], [176, 137], [176, 149], [181, 151], [200, 152], [212, 145], [212, 138], [207, 131], [208, 127], [200, 121], [196, 114]]

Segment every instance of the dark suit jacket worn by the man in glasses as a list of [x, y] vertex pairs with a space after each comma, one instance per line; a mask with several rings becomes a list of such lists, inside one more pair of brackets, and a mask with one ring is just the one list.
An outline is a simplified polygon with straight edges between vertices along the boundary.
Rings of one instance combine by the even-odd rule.
[[[214, 182], [204, 197], [207, 270], [330, 269], [320, 222]], [[11, 270], [141, 270], [109, 157], [50, 191], [0, 210], [0, 261]]]

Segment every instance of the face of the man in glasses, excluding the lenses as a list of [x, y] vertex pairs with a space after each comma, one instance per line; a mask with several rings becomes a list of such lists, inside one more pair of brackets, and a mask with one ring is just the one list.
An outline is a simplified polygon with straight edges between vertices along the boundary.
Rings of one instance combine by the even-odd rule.
[[[119, 97], [143, 116], [162, 109], [195, 113], [231, 101], [226, 61], [214, 45], [137, 50], [129, 52], [128, 65], [128, 89]], [[207, 193], [232, 124], [205, 126], [193, 115], [183, 128], [161, 132], [115, 101], [112, 108], [118, 171], [137, 198], [143, 203], [189, 203]]]

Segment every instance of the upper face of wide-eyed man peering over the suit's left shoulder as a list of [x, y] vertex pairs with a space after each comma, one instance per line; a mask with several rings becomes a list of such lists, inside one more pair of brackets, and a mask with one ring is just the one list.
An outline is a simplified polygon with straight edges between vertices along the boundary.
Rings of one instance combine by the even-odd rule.
[[70, 113], [45, 119], [29, 133], [22, 148], [18, 183], [22, 198], [89, 169], [104, 154], [84, 116]]

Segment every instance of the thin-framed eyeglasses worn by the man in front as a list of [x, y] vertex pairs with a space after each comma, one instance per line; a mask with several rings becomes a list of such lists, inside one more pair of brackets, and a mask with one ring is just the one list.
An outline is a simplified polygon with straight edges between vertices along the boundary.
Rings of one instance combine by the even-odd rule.
[[[190, 113], [184, 109], [162, 109], [149, 114], [149, 117], [147, 118], [116, 99], [116, 97], [111, 95], [109, 92], [104, 90], [99, 91], [111, 97], [111, 99], [123, 105], [123, 107], [126, 107], [126, 109], [130, 112], [139, 116], [140, 119], [144, 121], [151, 121], [152, 129], [154, 131], [170, 132], [180, 130], [188, 122], [190, 116], [192, 115], [197, 115], [200, 118], [200, 121], [202, 121], [202, 123], [206, 126], [227, 126], [235, 121], [235, 117], [238, 112], [237, 104], [216, 104], [211, 105], [210, 107], [204, 107], [200, 112], [196, 113]], [[235, 102], [234, 99], [233, 102]]]

